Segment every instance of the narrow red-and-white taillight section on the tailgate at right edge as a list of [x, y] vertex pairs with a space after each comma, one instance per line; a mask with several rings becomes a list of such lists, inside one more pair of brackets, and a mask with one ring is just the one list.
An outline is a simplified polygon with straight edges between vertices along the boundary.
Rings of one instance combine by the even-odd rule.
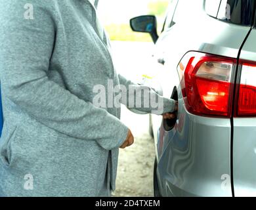
[[256, 64], [241, 62], [237, 116], [256, 116]]

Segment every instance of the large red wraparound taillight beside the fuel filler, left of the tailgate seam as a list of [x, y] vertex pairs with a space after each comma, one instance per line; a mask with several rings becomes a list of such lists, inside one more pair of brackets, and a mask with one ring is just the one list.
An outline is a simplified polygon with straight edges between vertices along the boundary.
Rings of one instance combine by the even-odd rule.
[[186, 109], [199, 116], [231, 117], [236, 59], [187, 53], [178, 72]]

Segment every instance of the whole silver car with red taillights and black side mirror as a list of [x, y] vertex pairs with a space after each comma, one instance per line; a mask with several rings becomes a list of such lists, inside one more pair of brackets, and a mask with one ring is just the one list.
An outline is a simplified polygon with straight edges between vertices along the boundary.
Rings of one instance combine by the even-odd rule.
[[151, 116], [155, 196], [256, 196], [254, 0], [172, 0], [131, 20], [156, 43], [154, 71], [174, 120]]

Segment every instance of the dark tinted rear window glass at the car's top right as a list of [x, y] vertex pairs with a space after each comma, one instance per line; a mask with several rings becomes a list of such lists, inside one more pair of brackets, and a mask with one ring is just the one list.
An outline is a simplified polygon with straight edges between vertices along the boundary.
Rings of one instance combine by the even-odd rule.
[[254, 4], [254, 0], [222, 0], [217, 18], [234, 24], [251, 26]]

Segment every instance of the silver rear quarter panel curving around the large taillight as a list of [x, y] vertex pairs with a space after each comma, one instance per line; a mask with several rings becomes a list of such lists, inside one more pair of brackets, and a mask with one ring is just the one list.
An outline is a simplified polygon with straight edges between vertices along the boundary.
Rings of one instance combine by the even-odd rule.
[[163, 196], [232, 196], [230, 119], [186, 111], [177, 65], [188, 51], [237, 58], [249, 28], [215, 20], [203, 9], [196, 12], [162, 33], [156, 45], [156, 58], [165, 59], [163, 95], [171, 96], [175, 86], [179, 92], [175, 128], [160, 127], [156, 142], [160, 191]]

